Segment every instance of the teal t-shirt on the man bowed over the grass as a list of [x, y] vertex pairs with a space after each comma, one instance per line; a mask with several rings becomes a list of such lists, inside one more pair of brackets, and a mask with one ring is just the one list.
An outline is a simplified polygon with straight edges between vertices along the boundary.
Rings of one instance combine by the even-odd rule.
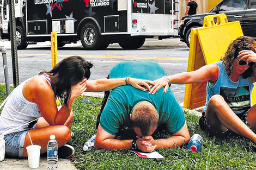
[[[163, 67], [154, 61], [124, 61], [113, 66], [110, 78], [159, 79], [166, 75]], [[138, 102], [148, 101], [159, 114], [159, 125], [164, 125], [172, 133], [177, 133], [185, 124], [185, 116], [173, 92], [168, 88], [163, 93], [161, 88], [155, 95], [148, 91], [135, 89], [130, 85], [120, 86], [111, 91], [102, 111], [100, 125], [107, 133], [116, 135], [119, 128], [132, 127], [130, 113]]]

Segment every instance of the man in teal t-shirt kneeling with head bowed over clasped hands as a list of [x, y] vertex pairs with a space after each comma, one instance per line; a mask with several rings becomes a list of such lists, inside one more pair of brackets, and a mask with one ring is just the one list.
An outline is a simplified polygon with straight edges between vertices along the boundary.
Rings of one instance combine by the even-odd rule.
[[[112, 67], [110, 78], [133, 77], [155, 80], [166, 75], [163, 67], [153, 61], [124, 61]], [[129, 84], [129, 78], [126, 79]], [[111, 91], [97, 125], [96, 149], [139, 149], [153, 152], [157, 148], [175, 148], [190, 140], [184, 112], [169, 89], [163, 88], [150, 95], [146, 90], [120, 86]], [[105, 95], [106, 96], [106, 95]], [[106, 100], [106, 97], [103, 101]], [[101, 109], [102, 110], [102, 109]], [[98, 119], [99, 120], [99, 119]], [[154, 139], [151, 135], [159, 125], [172, 134], [168, 138]], [[121, 128], [133, 128], [137, 136], [118, 140]], [[129, 134], [122, 134], [127, 136]]]

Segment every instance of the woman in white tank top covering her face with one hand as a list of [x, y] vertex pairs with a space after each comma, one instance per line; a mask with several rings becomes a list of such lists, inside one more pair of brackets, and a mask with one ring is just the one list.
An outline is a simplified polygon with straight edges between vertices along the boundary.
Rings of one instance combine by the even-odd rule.
[[[74, 154], [74, 148], [66, 143], [71, 137], [74, 117], [71, 106], [78, 96], [84, 91], [108, 91], [127, 84], [145, 91], [142, 85], [150, 90], [149, 84], [154, 84], [133, 78], [87, 80], [92, 66], [80, 56], [71, 56], [60, 61], [51, 71], [40, 72], [14, 89], [0, 116], [5, 155], [27, 157], [25, 148], [31, 144], [29, 135], [33, 144], [39, 144], [41, 153], [45, 153], [50, 135], [55, 135], [61, 147], [59, 158], [67, 158]], [[57, 97], [64, 100], [60, 107], [56, 104]]]

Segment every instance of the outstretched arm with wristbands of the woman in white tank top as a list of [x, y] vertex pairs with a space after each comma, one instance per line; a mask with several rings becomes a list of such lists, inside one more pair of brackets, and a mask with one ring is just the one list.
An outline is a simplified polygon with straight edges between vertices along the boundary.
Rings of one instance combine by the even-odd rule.
[[[119, 79], [97, 79], [97, 80], [87, 80], [87, 90], [86, 91], [108, 91], [114, 89], [115, 87], [126, 85], [125, 78]], [[127, 85], [132, 85], [133, 87], [140, 89], [142, 91], [150, 90], [149, 85], [155, 85], [153, 81], [127, 78]], [[147, 89], [145, 89], [145, 86]]]

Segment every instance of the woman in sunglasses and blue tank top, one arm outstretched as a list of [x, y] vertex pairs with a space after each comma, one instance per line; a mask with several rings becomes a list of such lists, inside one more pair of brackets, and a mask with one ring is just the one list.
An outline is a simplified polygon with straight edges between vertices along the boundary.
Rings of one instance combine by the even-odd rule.
[[256, 144], [256, 105], [251, 106], [255, 62], [256, 42], [252, 37], [240, 36], [230, 43], [222, 61], [158, 79], [150, 93], [167, 88], [168, 83], [207, 81], [205, 114], [199, 119], [200, 128], [219, 137], [232, 131]]

